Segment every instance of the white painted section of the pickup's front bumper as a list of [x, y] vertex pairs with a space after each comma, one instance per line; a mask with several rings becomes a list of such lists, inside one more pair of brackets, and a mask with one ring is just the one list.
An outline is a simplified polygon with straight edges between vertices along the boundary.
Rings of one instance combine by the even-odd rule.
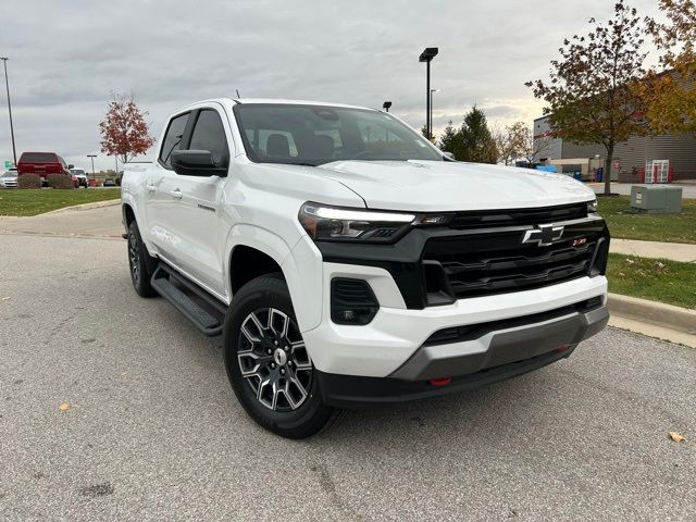
[[[545, 325], [537, 324], [539, 323], [537, 314], [563, 310], [593, 298], [599, 298], [604, 306], [607, 295], [606, 277], [581, 277], [544, 288], [460, 299], [448, 306], [409, 310], [405, 307], [394, 279], [386, 271], [376, 268], [324, 263], [323, 275], [324, 288], [328, 288], [328, 282], [333, 277], [352, 275], [365, 279], [374, 290], [381, 308], [368, 325], [335, 324], [331, 320], [330, 293], [324, 293], [320, 325], [302, 332], [314, 366], [325, 373], [369, 377], [393, 376], [426, 345], [433, 334], [445, 328], [488, 325], [493, 330], [489, 328], [488, 332], [477, 330], [480, 334], [477, 338], [438, 346], [436, 350], [435, 347], [428, 347], [433, 350], [428, 349], [427, 353], [448, 350], [456, 356], [490, 357], [486, 353], [494, 337], [496, 337], [496, 344], [501, 344], [505, 339], [497, 332], [509, 327], [509, 324], [502, 324], [506, 321], [526, 321], [524, 324], [530, 326], [519, 331], [519, 335], [512, 339], [511, 344], [522, 336], [530, 337], [530, 343], [533, 344], [536, 333], [539, 337], [546, 335], [543, 333]], [[572, 335], [560, 340], [568, 345], [579, 343], [580, 340], [574, 340], [579, 328], [582, 330], [577, 326]], [[592, 330], [588, 332], [591, 335], [594, 333]], [[560, 344], [559, 341], [552, 345], [550, 349]], [[498, 358], [492, 359], [493, 362], [498, 360]], [[475, 371], [475, 368], [472, 371]], [[414, 377], [415, 375], [410, 378]]]

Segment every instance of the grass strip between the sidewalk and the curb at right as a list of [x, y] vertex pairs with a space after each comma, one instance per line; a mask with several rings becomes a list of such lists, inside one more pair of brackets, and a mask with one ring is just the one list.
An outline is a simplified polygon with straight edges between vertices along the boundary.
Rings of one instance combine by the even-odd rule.
[[696, 309], [696, 263], [609, 254], [609, 291]]

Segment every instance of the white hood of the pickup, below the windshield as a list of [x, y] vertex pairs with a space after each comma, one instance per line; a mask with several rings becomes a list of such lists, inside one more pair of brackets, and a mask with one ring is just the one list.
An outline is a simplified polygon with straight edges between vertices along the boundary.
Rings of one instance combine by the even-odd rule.
[[336, 161], [320, 165], [316, 171], [353, 190], [371, 209], [522, 209], [595, 198], [592, 189], [568, 176], [477, 163]]

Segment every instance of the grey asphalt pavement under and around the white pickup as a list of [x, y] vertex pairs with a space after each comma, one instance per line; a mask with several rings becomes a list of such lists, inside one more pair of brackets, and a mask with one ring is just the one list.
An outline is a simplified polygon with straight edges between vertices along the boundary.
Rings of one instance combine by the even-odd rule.
[[15, 232], [0, 259], [0, 519], [696, 519], [696, 350], [608, 328], [290, 442], [236, 403], [220, 338], [135, 295], [122, 239]]

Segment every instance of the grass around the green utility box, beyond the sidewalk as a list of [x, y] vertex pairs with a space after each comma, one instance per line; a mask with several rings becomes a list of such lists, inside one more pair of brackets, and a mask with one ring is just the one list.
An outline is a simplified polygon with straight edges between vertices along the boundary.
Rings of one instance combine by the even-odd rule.
[[599, 214], [607, 220], [611, 237], [696, 244], [696, 199], [684, 199], [681, 214], [624, 214], [631, 207], [629, 196], [598, 201]]

